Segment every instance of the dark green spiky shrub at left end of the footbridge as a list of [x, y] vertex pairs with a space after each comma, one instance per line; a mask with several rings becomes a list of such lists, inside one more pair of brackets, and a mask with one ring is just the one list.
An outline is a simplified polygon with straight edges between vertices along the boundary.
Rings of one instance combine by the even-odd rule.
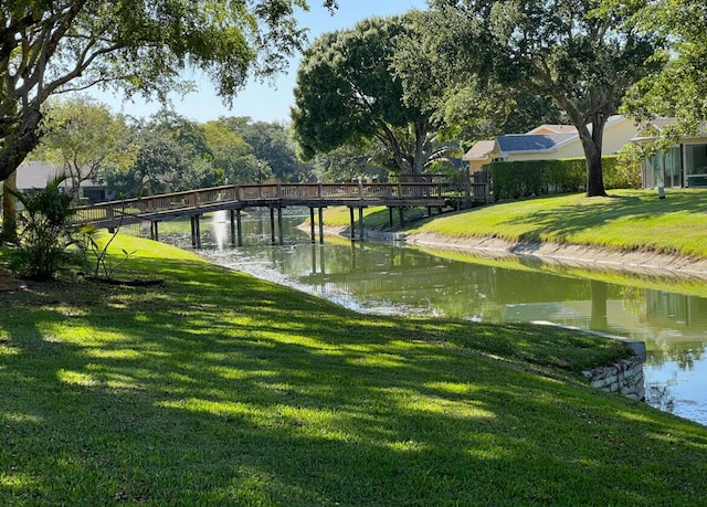
[[12, 267], [30, 279], [51, 279], [64, 260], [66, 249], [76, 243], [73, 198], [65, 193], [60, 175], [42, 189], [28, 192], [7, 189], [22, 204], [20, 234]]

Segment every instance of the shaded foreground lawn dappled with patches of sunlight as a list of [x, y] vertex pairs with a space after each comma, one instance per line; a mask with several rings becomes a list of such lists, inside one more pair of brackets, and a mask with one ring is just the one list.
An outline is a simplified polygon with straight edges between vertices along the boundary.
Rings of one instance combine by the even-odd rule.
[[698, 505], [707, 429], [579, 372], [612, 340], [361, 316], [120, 236], [0, 293], [1, 505]]

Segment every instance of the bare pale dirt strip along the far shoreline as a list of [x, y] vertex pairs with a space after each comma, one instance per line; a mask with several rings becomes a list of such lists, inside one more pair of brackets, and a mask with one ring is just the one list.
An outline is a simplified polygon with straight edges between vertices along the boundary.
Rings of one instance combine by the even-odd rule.
[[513, 243], [497, 237], [450, 237], [433, 233], [410, 234], [405, 237], [405, 242], [472, 251], [492, 256], [536, 257], [546, 263], [561, 263], [576, 267], [707, 279], [707, 260], [655, 252], [624, 252], [541, 242]]

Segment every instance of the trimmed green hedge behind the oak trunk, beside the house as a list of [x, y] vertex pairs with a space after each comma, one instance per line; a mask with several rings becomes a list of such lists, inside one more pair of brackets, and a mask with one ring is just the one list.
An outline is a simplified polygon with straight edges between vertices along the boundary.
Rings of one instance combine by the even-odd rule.
[[[640, 175], [616, 162], [615, 156], [602, 157], [606, 189], [635, 188]], [[581, 192], [587, 188], [583, 158], [492, 162], [486, 166], [495, 200], [518, 199], [549, 193]]]

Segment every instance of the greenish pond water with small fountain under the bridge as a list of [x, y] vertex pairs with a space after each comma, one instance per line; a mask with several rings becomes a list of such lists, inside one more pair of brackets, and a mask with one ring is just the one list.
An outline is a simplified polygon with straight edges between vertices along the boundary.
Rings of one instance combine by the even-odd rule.
[[[645, 341], [646, 402], [707, 424], [707, 298], [646, 288], [655, 284], [629, 275], [603, 282], [529, 260], [455, 260], [444, 252], [333, 236], [312, 244], [308, 231], [297, 229], [304, 219], [285, 216], [285, 244], [273, 246], [270, 218], [250, 215], [243, 220], [244, 246], [233, 247], [225, 214], [215, 214], [203, 220], [200, 253], [361, 313], [548, 320]], [[160, 240], [191, 247], [188, 233], [160, 233]]]

